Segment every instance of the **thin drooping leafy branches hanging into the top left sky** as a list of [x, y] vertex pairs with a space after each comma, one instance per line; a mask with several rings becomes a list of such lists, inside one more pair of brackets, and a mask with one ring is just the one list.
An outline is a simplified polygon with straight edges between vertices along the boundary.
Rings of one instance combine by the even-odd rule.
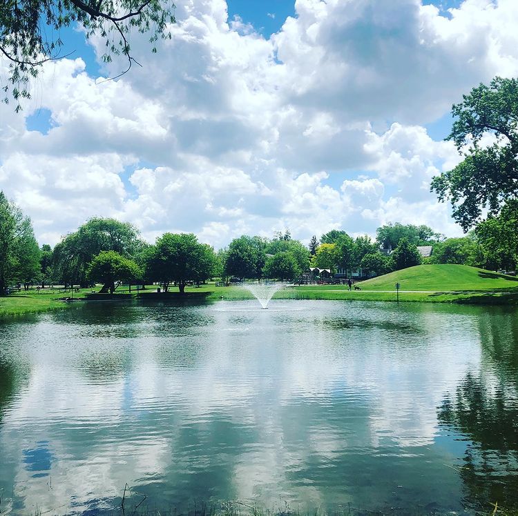
[[[77, 23], [86, 30], [86, 37], [104, 38], [109, 62], [113, 55], [122, 54], [132, 63], [128, 34], [135, 29], [148, 32], [149, 41], [171, 37], [168, 23], [174, 23], [174, 4], [169, 0], [4, 0], [0, 10], [0, 54], [10, 60], [11, 86], [3, 86], [18, 102], [29, 98], [28, 81], [37, 77], [46, 61], [59, 59], [63, 41], [59, 30]], [[56, 34], [58, 34], [56, 36]], [[125, 72], [123, 72], [125, 73]], [[8, 97], [4, 99], [8, 102]]]

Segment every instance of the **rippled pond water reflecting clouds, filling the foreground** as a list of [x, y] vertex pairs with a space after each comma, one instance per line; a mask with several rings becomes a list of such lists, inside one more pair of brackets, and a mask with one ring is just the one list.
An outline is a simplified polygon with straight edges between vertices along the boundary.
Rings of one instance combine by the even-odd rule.
[[518, 508], [515, 308], [257, 306], [3, 323], [1, 513]]

